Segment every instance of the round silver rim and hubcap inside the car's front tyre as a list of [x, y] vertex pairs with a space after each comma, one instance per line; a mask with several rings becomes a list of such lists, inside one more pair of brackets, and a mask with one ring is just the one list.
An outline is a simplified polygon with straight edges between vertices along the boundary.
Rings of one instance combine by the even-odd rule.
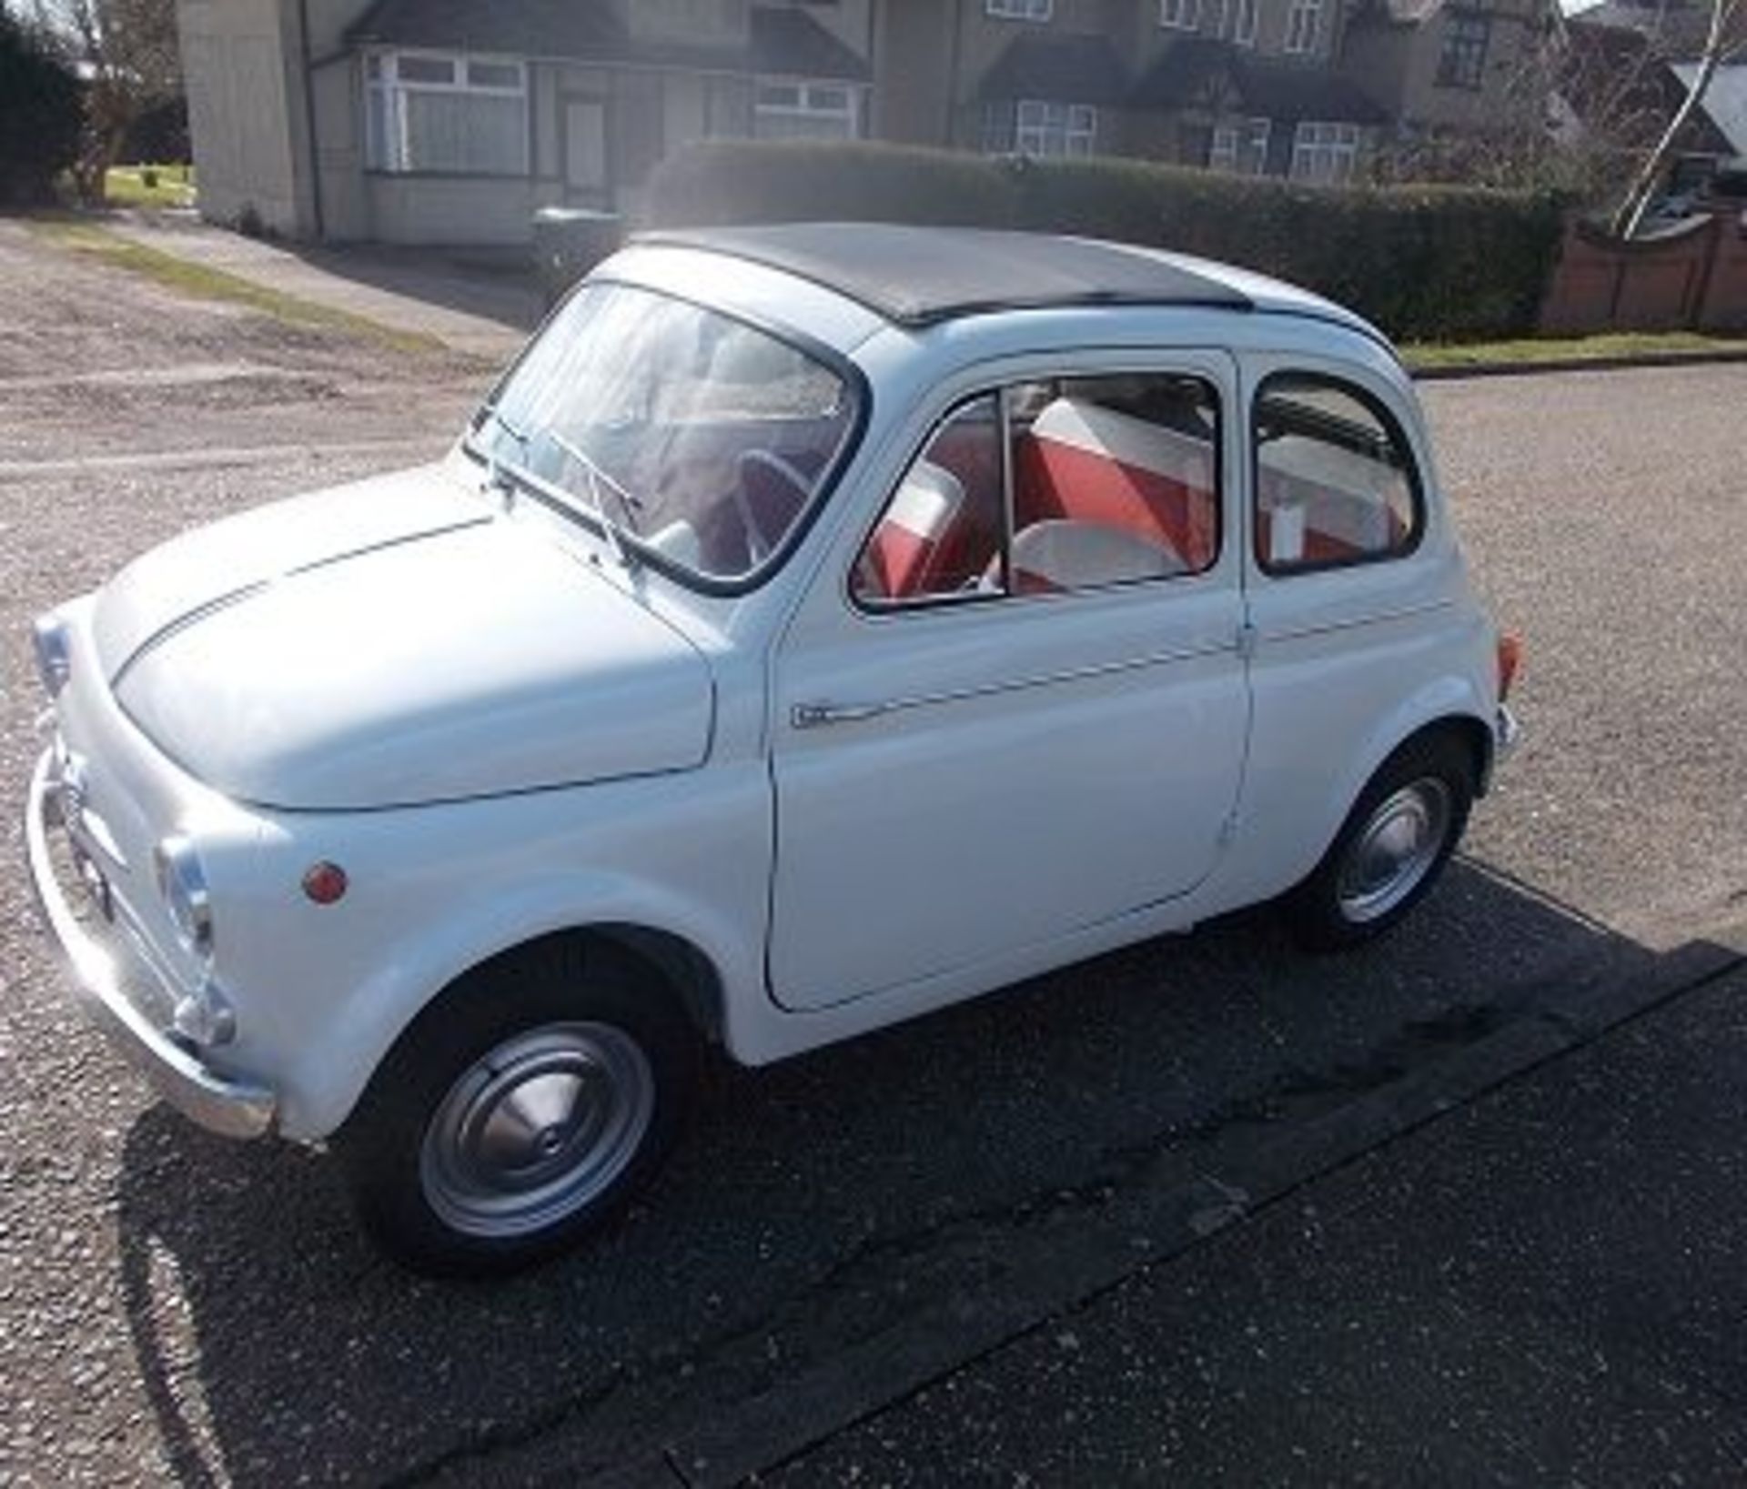
[[540, 1231], [625, 1171], [655, 1115], [648, 1056], [620, 1028], [529, 1030], [468, 1067], [425, 1129], [432, 1210], [470, 1236]]

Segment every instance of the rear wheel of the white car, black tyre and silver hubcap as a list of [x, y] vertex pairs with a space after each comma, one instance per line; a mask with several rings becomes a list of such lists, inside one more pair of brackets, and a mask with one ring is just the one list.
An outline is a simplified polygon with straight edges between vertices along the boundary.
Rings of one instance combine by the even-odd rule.
[[1322, 861], [1284, 897], [1298, 944], [1342, 951], [1399, 925], [1438, 882], [1473, 805], [1474, 763], [1457, 735], [1403, 744], [1359, 793]]

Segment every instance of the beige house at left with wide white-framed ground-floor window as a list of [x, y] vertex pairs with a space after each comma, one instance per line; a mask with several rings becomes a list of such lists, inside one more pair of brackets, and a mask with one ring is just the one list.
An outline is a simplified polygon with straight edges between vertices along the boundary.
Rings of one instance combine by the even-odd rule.
[[418, 244], [634, 213], [692, 140], [861, 136], [872, 5], [178, 0], [201, 209]]

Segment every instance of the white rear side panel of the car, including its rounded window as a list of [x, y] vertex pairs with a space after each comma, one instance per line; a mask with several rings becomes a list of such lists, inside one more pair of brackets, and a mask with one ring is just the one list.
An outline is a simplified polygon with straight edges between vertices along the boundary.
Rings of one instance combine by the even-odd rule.
[[1272, 889], [1282, 866], [1309, 871], [1405, 728], [1466, 709], [1473, 658], [1490, 642], [1478, 609], [1459, 602], [1462, 559], [1433, 501], [1410, 395], [1350, 363], [1284, 354], [1254, 358], [1247, 386], [1244, 817], [1267, 833], [1246, 831], [1239, 880]]

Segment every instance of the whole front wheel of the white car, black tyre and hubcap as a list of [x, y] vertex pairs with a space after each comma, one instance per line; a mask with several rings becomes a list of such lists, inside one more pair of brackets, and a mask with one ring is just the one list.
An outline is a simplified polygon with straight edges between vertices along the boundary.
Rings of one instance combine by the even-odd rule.
[[425, 1009], [334, 1149], [363, 1227], [395, 1260], [501, 1276], [624, 1208], [678, 1138], [697, 1065], [697, 1037], [648, 967], [554, 939]]

